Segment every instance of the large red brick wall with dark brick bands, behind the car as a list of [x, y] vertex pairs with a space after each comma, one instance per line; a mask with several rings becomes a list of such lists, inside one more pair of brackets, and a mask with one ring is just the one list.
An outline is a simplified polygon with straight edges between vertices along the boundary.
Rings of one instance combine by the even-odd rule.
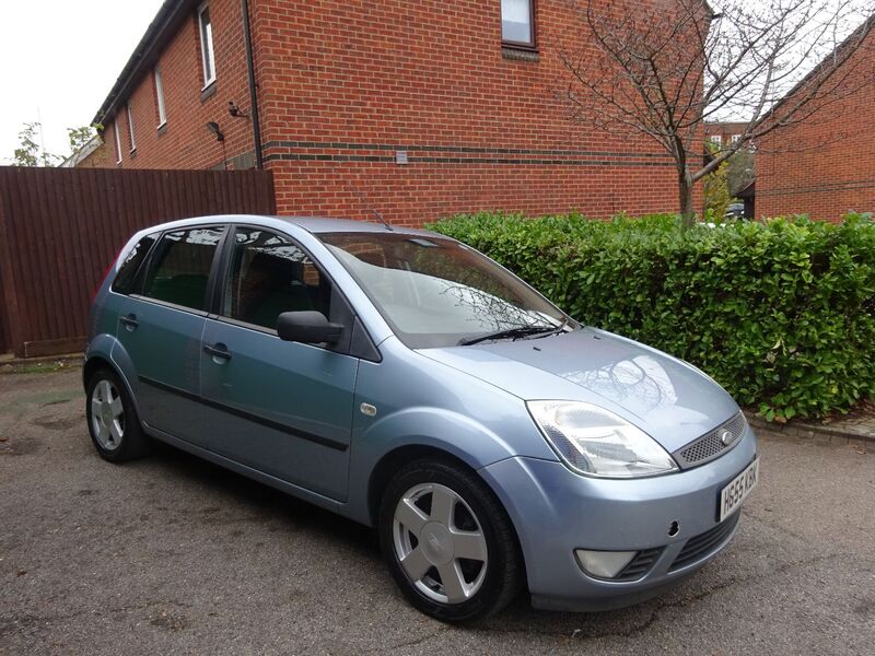
[[368, 218], [353, 188], [410, 224], [480, 209], [676, 209], [653, 144], [567, 120], [555, 95], [555, 43], [574, 24], [564, 0], [537, 2], [537, 62], [502, 56], [499, 0], [257, 4], [282, 212]]

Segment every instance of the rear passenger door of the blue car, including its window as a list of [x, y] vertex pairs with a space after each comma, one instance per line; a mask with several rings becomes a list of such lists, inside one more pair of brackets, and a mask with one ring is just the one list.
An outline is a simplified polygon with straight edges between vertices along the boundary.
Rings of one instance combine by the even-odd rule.
[[197, 226], [165, 232], [136, 293], [120, 305], [116, 333], [137, 373], [131, 384], [140, 420], [200, 446], [200, 339], [210, 274], [225, 231]]

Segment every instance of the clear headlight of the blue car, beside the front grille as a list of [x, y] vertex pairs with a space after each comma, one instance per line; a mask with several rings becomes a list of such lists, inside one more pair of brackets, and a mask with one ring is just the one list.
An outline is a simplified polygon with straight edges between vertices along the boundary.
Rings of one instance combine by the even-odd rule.
[[677, 469], [650, 435], [598, 406], [580, 401], [526, 405], [550, 444], [581, 473], [637, 478]]

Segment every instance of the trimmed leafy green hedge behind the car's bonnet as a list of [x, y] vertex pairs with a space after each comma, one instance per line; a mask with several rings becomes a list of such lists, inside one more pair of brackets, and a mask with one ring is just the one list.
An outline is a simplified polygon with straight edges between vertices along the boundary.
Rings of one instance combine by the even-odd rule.
[[875, 397], [875, 223], [699, 225], [481, 213], [432, 230], [482, 250], [574, 318], [701, 367], [768, 420]]

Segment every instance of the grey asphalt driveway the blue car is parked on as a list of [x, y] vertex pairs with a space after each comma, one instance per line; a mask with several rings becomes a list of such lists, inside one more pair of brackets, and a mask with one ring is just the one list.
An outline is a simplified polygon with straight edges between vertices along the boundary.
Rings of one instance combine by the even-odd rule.
[[170, 447], [115, 466], [79, 371], [0, 375], [0, 654], [872, 654], [875, 454], [761, 434], [730, 549], [641, 606], [412, 610], [371, 532]]

